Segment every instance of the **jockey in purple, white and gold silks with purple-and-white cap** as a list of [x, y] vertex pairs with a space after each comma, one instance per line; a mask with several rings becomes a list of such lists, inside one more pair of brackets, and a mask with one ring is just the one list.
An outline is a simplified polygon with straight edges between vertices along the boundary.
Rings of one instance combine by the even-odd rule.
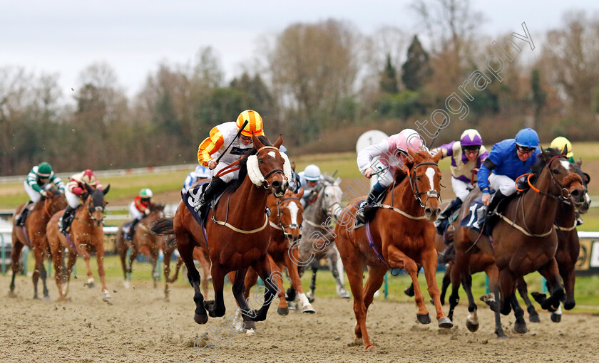
[[435, 222], [437, 232], [443, 235], [449, 225], [447, 219], [456, 209], [459, 209], [473, 188], [472, 169], [481, 167], [488, 151], [483, 146], [481, 134], [474, 129], [469, 129], [462, 133], [460, 141], [450, 142], [431, 150], [433, 155], [437, 152], [443, 152], [441, 159], [451, 157], [451, 186], [456, 194], [456, 199], [446, 206]]

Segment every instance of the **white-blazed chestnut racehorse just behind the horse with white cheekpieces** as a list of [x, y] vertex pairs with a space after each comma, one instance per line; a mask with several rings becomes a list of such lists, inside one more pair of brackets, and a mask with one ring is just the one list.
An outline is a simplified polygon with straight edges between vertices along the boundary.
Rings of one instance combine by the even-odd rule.
[[[289, 307], [285, 300], [285, 289], [283, 288], [282, 273], [287, 267], [291, 282], [295, 291], [302, 302], [302, 312], [314, 313], [314, 307], [310, 304], [302, 288], [302, 280], [299, 278], [298, 265], [299, 251], [292, 248], [295, 241], [302, 238], [300, 233], [302, 228], [302, 203], [299, 201], [304, 195], [304, 189], [300, 189], [298, 194], [287, 189], [285, 195], [277, 199], [275, 196], [268, 196], [267, 204], [272, 211], [269, 217], [269, 227], [271, 232], [270, 245], [268, 246], [268, 259], [270, 269], [277, 284], [277, 297], [279, 305], [277, 312], [279, 315], [289, 314]], [[274, 211], [277, 211], [275, 214]], [[234, 275], [230, 274], [230, 277]], [[247, 299], [250, 296], [250, 288], [256, 284], [258, 275], [253, 268], [247, 270], [245, 275], [244, 296]]]

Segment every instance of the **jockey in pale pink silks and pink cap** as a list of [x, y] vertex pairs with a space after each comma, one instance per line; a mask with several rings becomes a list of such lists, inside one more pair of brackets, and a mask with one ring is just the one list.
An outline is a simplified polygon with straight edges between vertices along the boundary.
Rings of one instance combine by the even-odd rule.
[[[395, 169], [405, 168], [408, 150], [426, 149], [422, 137], [412, 129], [405, 129], [399, 134], [391, 135], [378, 144], [370, 145], [358, 154], [358, 169], [370, 179], [378, 174], [378, 182], [369, 192], [366, 203], [356, 211], [356, 219], [364, 223], [364, 207], [370, 206], [382, 194], [394, 179]], [[379, 157], [376, 161], [375, 158]], [[377, 172], [374, 171], [377, 169]]]

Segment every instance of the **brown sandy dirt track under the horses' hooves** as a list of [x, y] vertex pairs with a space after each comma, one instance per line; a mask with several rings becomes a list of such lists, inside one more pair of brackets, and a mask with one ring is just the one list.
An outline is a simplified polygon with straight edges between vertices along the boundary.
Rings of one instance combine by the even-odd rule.
[[[56, 299], [56, 285], [50, 280]], [[207, 325], [193, 321], [191, 288], [173, 288], [170, 302], [160, 288], [138, 283], [125, 290], [116, 283], [110, 302], [101, 290], [83, 281], [71, 284], [69, 302], [31, 300], [31, 279], [17, 279], [17, 298], [8, 298], [10, 280], [0, 276], [0, 362], [204, 362], [213, 352], [198, 352], [194, 341], [209, 330], [220, 329], [228, 344], [215, 335], [209, 344], [220, 351], [214, 362], [593, 362], [597, 359], [599, 317], [565, 313], [560, 324], [548, 313], [541, 324], [528, 324], [526, 335], [511, 329], [513, 317], [504, 317], [508, 340], [493, 334], [493, 315], [479, 304], [481, 329], [466, 330], [465, 298], [456, 311], [456, 325], [439, 330], [416, 322], [414, 304], [375, 300], [368, 327], [377, 346], [364, 352], [352, 344], [352, 300], [317, 298], [315, 315], [291, 312], [281, 317], [271, 307], [266, 322], [257, 323], [254, 337], [231, 335], [223, 318]], [[226, 285], [227, 315], [234, 312], [230, 285]], [[430, 305], [430, 304], [429, 304]], [[427, 305], [429, 310], [432, 306]], [[445, 308], [446, 310], [446, 308]], [[434, 310], [433, 310], [434, 311]], [[202, 342], [206, 340], [200, 339]]]

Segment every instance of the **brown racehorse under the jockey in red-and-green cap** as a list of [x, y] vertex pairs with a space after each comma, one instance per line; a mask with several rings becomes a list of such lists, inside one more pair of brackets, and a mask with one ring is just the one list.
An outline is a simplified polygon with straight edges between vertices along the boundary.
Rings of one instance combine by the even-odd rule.
[[[123, 267], [123, 285], [125, 288], [129, 288], [131, 280], [131, 269], [133, 268], [133, 261], [137, 258], [138, 253], [142, 253], [143, 256], [148, 258], [152, 264], [152, 279], [154, 281], [154, 288], [157, 287], [158, 273], [156, 272], [156, 263], [158, 263], [158, 253], [160, 248], [165, 246], [165, 238], [156, 236], [150, 231], [150, 224], [157, 219], [164, 218], [164, 205], [163, 204], [150, 204], [150, 214], [145, 216], [139, 221], [137, 228], [135, 228], [135, 234], [133, 235], [132, 241], [126, 241], [123, 238], [123, 226], [118, 228], [116, 233], [116, 248], [121, 256], [121, 266]], [[126, 263], [127, 251], [131, 249], [129, 256], [129, 265]], [[164, 250], [163, 250], [164, 251]], [[168, 278], [167, 271], [165, 270], [165, 278]]]

